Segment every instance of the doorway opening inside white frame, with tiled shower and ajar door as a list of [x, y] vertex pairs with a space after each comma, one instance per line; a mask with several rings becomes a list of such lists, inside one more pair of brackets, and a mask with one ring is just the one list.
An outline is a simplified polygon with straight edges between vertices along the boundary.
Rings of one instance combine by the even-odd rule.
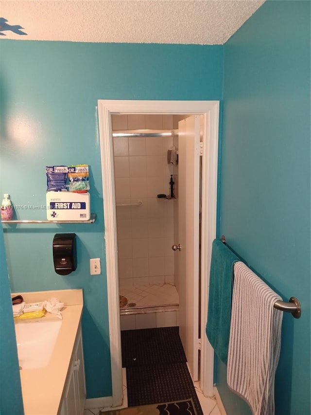
[[179, 326], [194, 381], [200, 118], [112, 115], [121, 330]]

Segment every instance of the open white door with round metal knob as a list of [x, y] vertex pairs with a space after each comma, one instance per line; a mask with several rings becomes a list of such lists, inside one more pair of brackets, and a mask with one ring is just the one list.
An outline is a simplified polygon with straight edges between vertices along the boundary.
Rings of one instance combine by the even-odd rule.
[[200, 116], [178, 124], [179, 333], [190, 373], [198, 380]]

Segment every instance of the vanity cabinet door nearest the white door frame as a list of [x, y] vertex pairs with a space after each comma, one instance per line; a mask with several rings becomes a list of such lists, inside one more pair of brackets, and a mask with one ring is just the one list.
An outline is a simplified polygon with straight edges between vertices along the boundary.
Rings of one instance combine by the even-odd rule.
[[74, 353], [75, 364], [75, 392], [76, 392], [76, 405], [77, 414], [83, 415], [84, 406], [86, 403], [86, 383], [84, 373], [84, 359], [83, 359], [83, 345], [81, 331], [78, 336], [78, 342]]

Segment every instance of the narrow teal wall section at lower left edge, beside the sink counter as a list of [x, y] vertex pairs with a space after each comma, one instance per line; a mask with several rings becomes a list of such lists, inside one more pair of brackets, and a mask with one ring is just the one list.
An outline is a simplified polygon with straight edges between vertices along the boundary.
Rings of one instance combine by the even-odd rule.
[[5, 247], [0, 224], [0, 414], [23, 415], [17, 345]]

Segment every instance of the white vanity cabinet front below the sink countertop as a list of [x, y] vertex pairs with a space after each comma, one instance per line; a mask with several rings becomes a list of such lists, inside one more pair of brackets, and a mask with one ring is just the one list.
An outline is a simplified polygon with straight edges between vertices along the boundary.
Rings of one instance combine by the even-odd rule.
[[73, 347], [59, 415], [83, 415], [86, 402], [81, 324]]

